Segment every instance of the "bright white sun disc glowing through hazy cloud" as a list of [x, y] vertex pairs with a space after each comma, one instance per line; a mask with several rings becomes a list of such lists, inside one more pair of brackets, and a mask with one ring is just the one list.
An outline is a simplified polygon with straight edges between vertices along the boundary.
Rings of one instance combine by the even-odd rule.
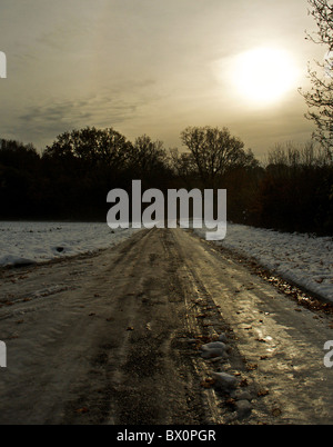
[[251, 103], [266, 106], [296, 88], [297, 70], [284, 50], [256, 48], [235, 57], [231, 70], [238, 92]]

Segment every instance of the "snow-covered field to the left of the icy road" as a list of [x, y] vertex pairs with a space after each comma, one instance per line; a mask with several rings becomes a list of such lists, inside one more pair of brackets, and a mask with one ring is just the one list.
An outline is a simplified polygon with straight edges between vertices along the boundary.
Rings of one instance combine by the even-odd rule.
[[112, 247], [138, 230], [107, 224], [0, 222], [0, 266], [41, 262]]

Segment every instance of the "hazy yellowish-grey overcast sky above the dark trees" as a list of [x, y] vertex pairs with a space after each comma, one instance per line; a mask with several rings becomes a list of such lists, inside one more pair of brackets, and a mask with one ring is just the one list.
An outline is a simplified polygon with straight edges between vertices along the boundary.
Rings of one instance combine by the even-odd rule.
[[[306, 0], [1, 0], [0, 137], [42, 149], [65, 130], [113, 127], [181, 149], [186, 126], [210, 125], [255, 155], [309, 140], [297, 88], [309, 88], [307, 62], [325, 49], [305, 29], [316, 30]], [[291, 67], [268, 102], [250, 95], [238, 64], [263, 47]]]

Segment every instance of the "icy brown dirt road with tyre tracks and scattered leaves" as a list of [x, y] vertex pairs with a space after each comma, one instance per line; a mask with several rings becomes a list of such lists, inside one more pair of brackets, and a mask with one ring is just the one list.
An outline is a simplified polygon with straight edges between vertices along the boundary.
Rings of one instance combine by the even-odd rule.
[[[0, 281], [2, 425], [333, 423], [333, 315], [189, 231], [142, 230]], [[221, 334], [224, 355], [203, 358]]]

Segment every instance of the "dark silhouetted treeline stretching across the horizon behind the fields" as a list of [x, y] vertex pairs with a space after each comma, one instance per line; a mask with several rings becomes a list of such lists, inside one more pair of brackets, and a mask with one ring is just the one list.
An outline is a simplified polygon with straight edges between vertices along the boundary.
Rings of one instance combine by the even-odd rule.
[[225, 188], [228, 219], [285, 231], [333, 234], [332, 155], [312, 142], [276, 146], [260, 163], [226, 128], [193, 127], [183, 151], [114, 129], [64, 132], [39, 153], [0, 140], [0, 218], [102, 220], [112, 188]]

